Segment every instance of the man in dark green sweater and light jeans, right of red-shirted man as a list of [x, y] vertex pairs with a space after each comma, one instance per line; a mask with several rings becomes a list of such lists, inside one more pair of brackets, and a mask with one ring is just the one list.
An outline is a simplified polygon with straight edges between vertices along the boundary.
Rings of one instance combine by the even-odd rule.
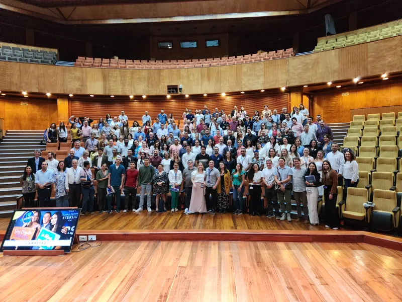
[[144, 208], [145, 192], [147, 193], [147, 210], [151, 212], [151, 198], [152, 198], [152, 176], [155, 174], [155, 168], [149, 164], [147, 157], [143, 158], [143, 165], [138, 169], [137, 185], [140, 188], [140, 205], [135, 210], [139, 213]]

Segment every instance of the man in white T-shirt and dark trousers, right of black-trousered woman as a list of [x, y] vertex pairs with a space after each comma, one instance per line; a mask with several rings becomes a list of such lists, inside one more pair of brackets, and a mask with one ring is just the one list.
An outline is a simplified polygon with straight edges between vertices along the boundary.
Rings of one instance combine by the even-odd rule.
[[267, 218], [274, 216], [273, 210], [275, 209], [276, 219], [280, 219], [278, 198], [275, 192], [275, 177], [273, 175], [274, 168], [272, 167], [272, 160], [267, 158], [265, 161], [266, 168], [262, 170], [262, 182], [265, 184], [265, 197], [267, 199]]

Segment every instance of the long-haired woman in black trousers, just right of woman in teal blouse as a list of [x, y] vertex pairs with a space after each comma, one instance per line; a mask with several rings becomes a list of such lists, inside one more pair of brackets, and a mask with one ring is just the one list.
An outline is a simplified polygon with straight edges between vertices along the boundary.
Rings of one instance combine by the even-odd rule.
[[262, 173], [257, 163], [254, 163], [247, 173], [248, 191], [250, 193], [250, 215], [261, 216], [261, 183]]

